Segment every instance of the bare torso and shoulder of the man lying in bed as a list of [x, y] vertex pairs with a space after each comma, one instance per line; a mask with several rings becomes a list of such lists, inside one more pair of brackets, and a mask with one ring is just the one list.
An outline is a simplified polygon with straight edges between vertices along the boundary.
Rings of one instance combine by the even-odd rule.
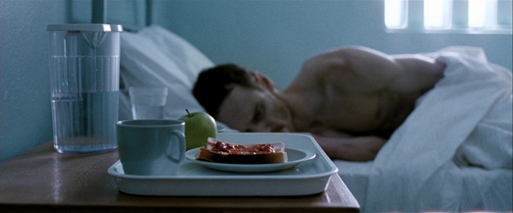
[[444, 67], [442, 61], [419, 55], [394, 57], [361, 47], [335, 50], [307, 60], [283, 94], [304, 103], [289, 105], [296, 131], [387, 138], [413, 111], [417, 98], [443, 76]]

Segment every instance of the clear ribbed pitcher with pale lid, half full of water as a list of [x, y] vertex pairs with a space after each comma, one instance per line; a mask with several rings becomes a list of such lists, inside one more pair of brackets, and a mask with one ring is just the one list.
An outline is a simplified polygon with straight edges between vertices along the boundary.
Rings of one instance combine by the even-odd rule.
[[48, 25], [53, 144], [59, 153], [117, 147], [121, 25]]

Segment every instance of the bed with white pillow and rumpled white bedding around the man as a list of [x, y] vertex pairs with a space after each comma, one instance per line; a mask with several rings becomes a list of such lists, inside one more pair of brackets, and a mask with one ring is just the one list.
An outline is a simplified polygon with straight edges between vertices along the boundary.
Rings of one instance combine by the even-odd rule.
[[[214, 63], [186, 39], [149, 25], [123, 32], [121, 47], [120, 119], [131, 118], [128, 88], [136, 86], [169, 88], [167, 118], [204, 111], [190, 90]], [[511, 211], [511, 71], [478, 47], [425, 54], [449, 61], [445, 77], [374, 161], [334, 160], [339, 175], [364, 212]]]

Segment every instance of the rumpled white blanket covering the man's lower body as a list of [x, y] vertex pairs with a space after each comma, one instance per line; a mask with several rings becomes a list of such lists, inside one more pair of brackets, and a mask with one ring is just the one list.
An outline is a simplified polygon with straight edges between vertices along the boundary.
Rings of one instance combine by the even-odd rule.
[[362, 210], [511, 211], [511, 71], [476, 48], [429, 55], [445, 59], [444, 77], [363, 167]]

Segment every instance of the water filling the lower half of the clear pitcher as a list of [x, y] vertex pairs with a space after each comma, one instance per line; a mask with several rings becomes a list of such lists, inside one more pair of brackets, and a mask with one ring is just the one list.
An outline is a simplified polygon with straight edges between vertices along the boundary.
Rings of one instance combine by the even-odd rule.
[[103, 153], [117, 147], [115, 122], [118, 92], [53, 93], [52, 111], [57, 152]]

